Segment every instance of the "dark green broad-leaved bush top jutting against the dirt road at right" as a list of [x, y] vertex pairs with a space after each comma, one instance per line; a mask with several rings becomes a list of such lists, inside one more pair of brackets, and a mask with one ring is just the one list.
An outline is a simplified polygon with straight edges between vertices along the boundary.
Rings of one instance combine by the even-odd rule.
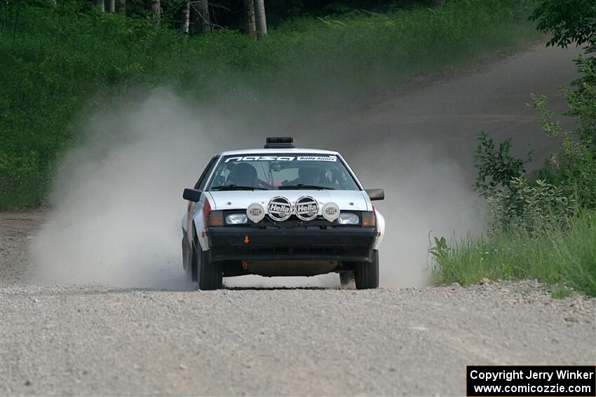
[[474, 184], [475, 189], [484, 197], [494, 195], [496, 190], [511, 189], [513, 179], [525, 174], [524, 165], [531, 161], [529, 152], [527, 160], [514, 158], [510, 155], [511, 139], [505, 139], [495, 149], [494, 141], [484, 131], [478, 134], [478, 147], [474, 155], [474, 166], [478, 169], [478, 176]]

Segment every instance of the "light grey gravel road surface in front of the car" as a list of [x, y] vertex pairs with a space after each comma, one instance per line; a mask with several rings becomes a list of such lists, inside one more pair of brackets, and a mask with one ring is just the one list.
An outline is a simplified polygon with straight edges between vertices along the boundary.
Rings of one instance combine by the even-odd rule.
[[596, 300], [470, 288], [29, 284], [42, 212], [2, 213], [0, 395], [463, 395], [469, 364], [596, 362]]

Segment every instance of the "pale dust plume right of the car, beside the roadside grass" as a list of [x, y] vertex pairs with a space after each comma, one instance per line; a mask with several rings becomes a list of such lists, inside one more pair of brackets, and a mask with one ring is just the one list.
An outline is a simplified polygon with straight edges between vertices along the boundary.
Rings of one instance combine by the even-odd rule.
[[428, 284], [433, 237], [451, 241], [483, 230], [485, 211], [468, 172], [440, 153], [431, 141], [397, 147], [379, 142], [374, 151], [365, 151], [368, 161], [348, 159], [358, 165], [365, 188], [385, 190], [386, 200], [373, 202], [386, 221], [379, 250], [380, 286]]

